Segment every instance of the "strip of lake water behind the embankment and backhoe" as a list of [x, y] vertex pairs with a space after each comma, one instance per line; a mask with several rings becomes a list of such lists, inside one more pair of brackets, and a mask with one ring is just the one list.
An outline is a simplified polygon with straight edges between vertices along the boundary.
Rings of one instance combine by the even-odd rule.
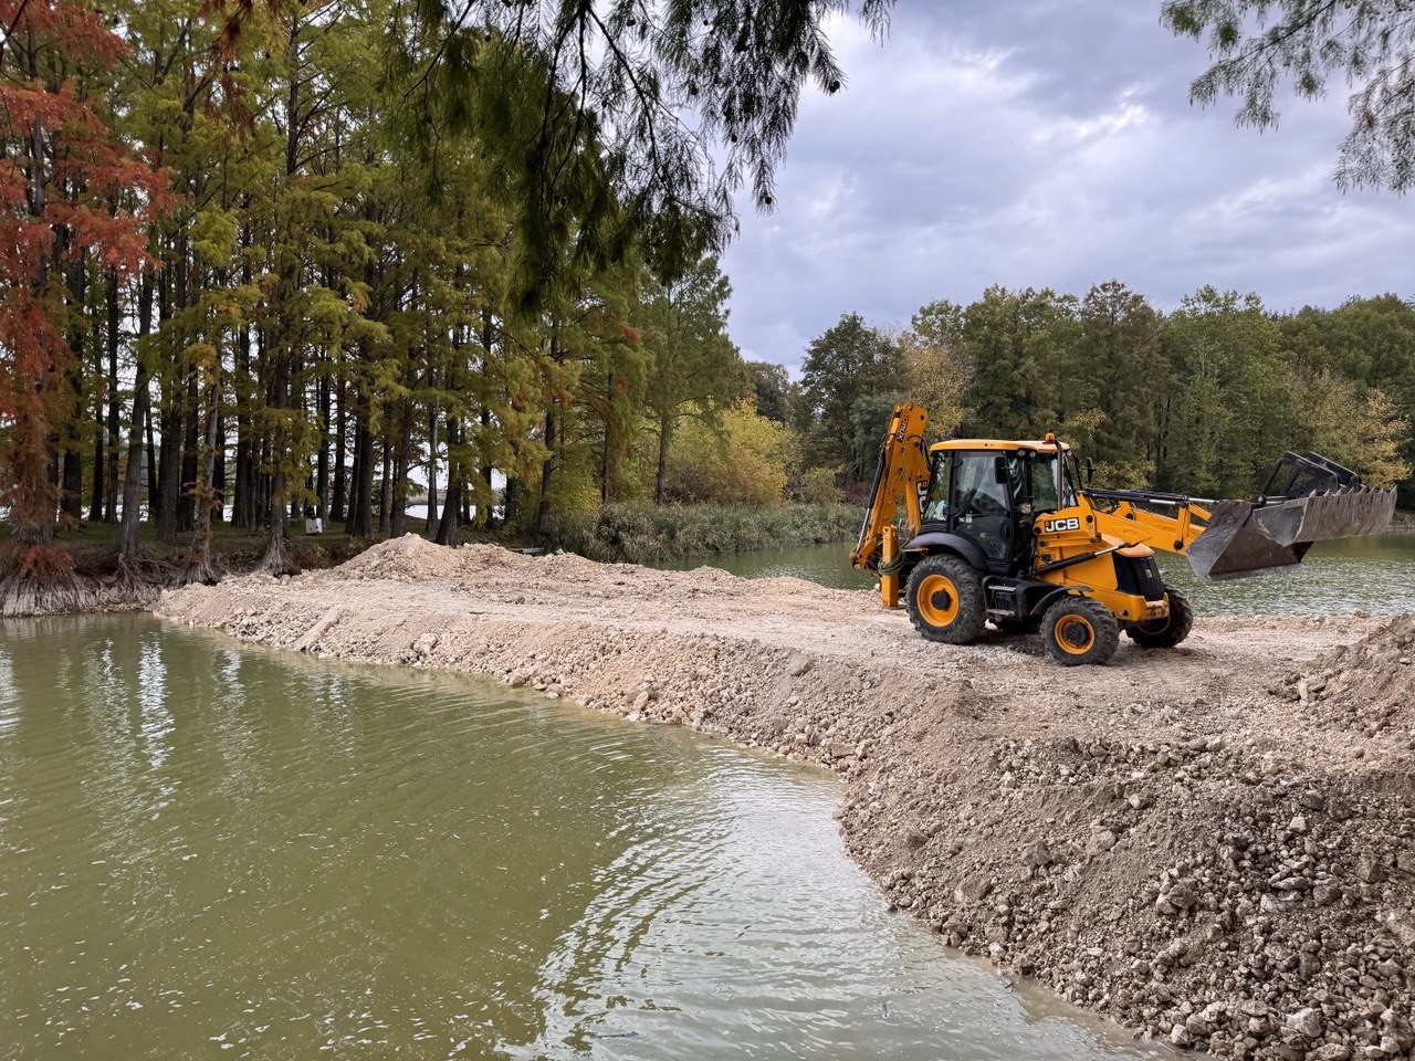
[[[1166, 581], [1182, 589], [1200, 615], [1415, 613], [1415, 535], [1322, 542], [1281, 574], [1208, 581], [1182, 556], [1156, 553]], [[695, 559], [664, 567], [720, 567], [749, 579], [790, 574], [836, 589], [872, 589], [874, 577], [850, 567], [849, 545], [808, 546]]]

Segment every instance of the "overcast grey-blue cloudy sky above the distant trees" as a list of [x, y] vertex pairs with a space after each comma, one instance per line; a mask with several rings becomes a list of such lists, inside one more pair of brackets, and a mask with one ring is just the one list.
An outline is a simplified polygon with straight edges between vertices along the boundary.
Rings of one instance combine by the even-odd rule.
[[1415, 297], [1415, 199], [1332, 181], [1347, 89], [1282, 100], [1278, 129], [1189, 103], [1206, 51], [1159, 0], [903, 0], [883, 45], [853, 21], [845, 91], [802, 99], [777, 209], [741, 201], [723, 256], [733, 340], [797, 372], [841, 314], [907, 325], [989, 284], [1159, 308], [1211, 283], [1275, 310]]

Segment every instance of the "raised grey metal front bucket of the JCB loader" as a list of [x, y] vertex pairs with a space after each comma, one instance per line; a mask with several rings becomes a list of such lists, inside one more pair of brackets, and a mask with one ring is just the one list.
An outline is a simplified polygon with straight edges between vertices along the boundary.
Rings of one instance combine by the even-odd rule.
[[1394, 489], [1353, 487], [1274, 501], [1220, 501], [1186, 550], [1201, 579], [1241, 579], [1302, 563], [1315, 542], [1378, 535], [1395, 514]]

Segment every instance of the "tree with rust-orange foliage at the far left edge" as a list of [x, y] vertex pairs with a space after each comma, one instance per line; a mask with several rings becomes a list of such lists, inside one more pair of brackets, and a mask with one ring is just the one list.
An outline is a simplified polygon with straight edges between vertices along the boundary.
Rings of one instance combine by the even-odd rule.
[[65, 266], [134, 276], [167, 177], [117, 140], [95, 108], [126, 51], [72, 0], [0, 0], [0, 491], [16, 540], [48, 546], [54, 439], [74, 414], [74, 306]]

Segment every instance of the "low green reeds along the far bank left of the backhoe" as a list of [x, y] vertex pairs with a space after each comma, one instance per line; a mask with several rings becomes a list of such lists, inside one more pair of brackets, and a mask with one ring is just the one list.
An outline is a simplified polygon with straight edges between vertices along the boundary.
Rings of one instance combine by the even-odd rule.
[[552, 521], [546, 545], [603, 563], [654, 563], [749, 549], [848, 542], [863, 514], [853, 505], [604, 505]]

